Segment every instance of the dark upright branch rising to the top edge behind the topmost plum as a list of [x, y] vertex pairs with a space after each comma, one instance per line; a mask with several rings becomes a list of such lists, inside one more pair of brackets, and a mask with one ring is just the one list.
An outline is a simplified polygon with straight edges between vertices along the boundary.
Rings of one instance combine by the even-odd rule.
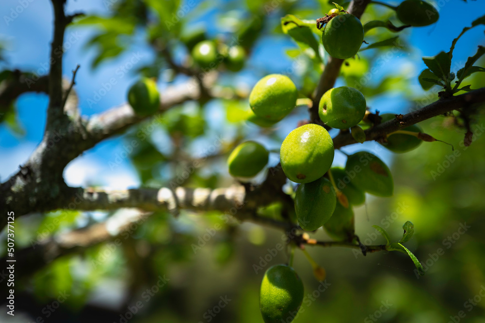
[[[353, 0], [350, 3], [347, 11], [360, 19], [360, 16], [364, 13], [364, 10], [369, 2], [371, 2], [371, 0]], [[335, 80], [337, 77], [339, 77], [340, 67], [342, 66], [343, 61], [344, 60], [339, 58], [331, 56], [328, 57], [328, 62], [325, 65], [322, 76], [318, 82], [318, 86], [313, 94], [313, 106], [309, 109], [311, 122], [320, 123], [318, 104], [320, 103], [322, 95], [333, 88]]]

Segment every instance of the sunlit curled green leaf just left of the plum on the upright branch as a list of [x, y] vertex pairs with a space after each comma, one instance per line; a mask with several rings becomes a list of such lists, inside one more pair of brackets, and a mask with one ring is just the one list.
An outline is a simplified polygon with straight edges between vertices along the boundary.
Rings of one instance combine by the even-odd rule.
[[285, 15], [281, 18], [281, 29], [284, 33], [289, 34], [303, 50], [308, 47], [313, 49], [315, 56], [320, 59], [318, 42], [306, 23], [294, 15]]

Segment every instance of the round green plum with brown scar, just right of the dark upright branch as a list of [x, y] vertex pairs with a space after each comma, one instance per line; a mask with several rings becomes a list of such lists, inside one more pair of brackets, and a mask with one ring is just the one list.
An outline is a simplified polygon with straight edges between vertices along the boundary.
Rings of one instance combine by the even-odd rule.
[[366, 107], [365, 97], [360, 91], [341, 86], [330, 89], [322, 95], [318, 114], [328, 126], [346, 129], [362, 121]]

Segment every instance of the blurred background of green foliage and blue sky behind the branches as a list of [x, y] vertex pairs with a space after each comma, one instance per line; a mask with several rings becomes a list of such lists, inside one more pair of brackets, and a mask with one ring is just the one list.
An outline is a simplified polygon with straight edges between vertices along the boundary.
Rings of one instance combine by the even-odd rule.
[[[0, 3], [0, 70], [46, 75], [51, 3], [33, 0], [21, 6], [20, 2]], [[400, 45], [366, 50], [358, 59], [347, 60], [337, 85], [358, 88], [372, 112], [405, 113], [436, 101], [438, 89], [425, 92], [418, 82], [425, 68], [421, 57], [447, 51], [453, 38], [485, 13], [485, 4], [480, 0], [434, 4], [440, 15], [434, 25], [399, 34], [382, 28], [367, 33], [369, 43], [399, 35]], [[17, 10], [18, 6], [23, 9]], [[155, 40], [162, 41], [177, 64], [190, 67], [194, 39], [227, 45], [238, 39], [247, 61], [237, 73], [224, 68], [217, 72], [216, 86], [241, 99], [189, 101], [171, 108], [73, 160], [65, 169], [65, 182], [110, 189], [173, 183], [226, 187], [235, 183], [227, 172], [227, 155], [246, 139], [272, 150], [269, 166], [275, 166], [281, 142], [299, 121], [308, 119], [307, 109], [298, 107], [274, 127], [260, 128], [246, 120], [245, 97], [259, 78], [270, 73], [289, 76], [302, 97], [313, 91], [322, 71], [318, 55], [284, 34], [280, 19], [292, 14], [314, 20], [332, 7], [326, 0], [68, 0], [67, 13], [86, 15], [65, 33], [63, 62], [66, 79], [81, 65], [75, 90], [83, 115], [126, 102], [129, 86], [140, 75], [157, 77], [162, 96], [165, 89], [187, 82], [188, 77], [177, 74], [154, 48]], [[362, 22], [374, 19], [400, 24], [393, 11], [371, 4]], [[452, 71], [475, 54], [477, 45], [485, 45], [483, 26], [460, 39]], [[322, 46], [319, 54], [325, 60]], [[476, 65], [484, 66], [484, 60]], [[108, 90], [112, 78], [116, 82]], [[468, 84], [483, 87], [485, 75], [474, 74], [463, 83]], [[2, 182], [40, 142], [47, 105], [47, 94], [26, 93], [2, 116]], [[406, 154], [393, 154], [375, 142], [342, 149], [347, 154], [360, 150], [377, 154], [394, 176], [392, 198], [367, 196], [366, 205], [355, 209], [356, 234], [365, 244], [384, 243], [372, 228], [377, 224], [397, 241], [404, 222], [413, 222], [415, 234], [406, 247], [426, 273], [417, 276], [412, 261], [401, 253], [363, 257], [349, 248], [308, 247], [326, 269], [322, 285], [296, 250], [294, 268], [307, 297], [294, 322], [485, 322], [485, 299], [480, 295], [485, 295], [484, 122], [482, 112], [474, 120], [470, 147], [463, 145], [465, 130], [450, 118], [420, 123], [424, 132], [451, 143], [454, 152], [442, 142], [425, 142]], [[146, 136], [142, 139], [140, 134]], [[132, 140], [139, 142], [136, 149], [129, 149]], [[345, 158], [337, 151], [334, 164], [343, 166]], [[194, 160], [201, 160], [201, 166], [185, 177], [185, 168]], [[255, 181], [263, 178], [264, 173]], [[16, 249], [105, 221], [115, 226], [116, 219], [132, 212], [70, 210], [23, 216], [16, 219]], [[279, 218], [281, 207], [272, 205], [260, 212]], [[262, 322], [259, 284], [264, 271], [288, 260], [285, 250], [273, 252], [283, 242], [282, 231], [237, 223], [215, 212], [182, 212], [178, 218], [156, 213], [126, 232], [117, 237], [119, 243], [113, 233], [113, 239], [37, 264], [34, 272], [16, 277], [16, 316], [2, 310], [0, 322]], [[322, 230], [312, 236], [330, 239]], [[0, 237], [5, 241], [5, 230]], [[0, 255], [5, 252], [1, 244]], [[0, 277], [2, 289], [5, 279]], [[459, 317], [460, 311], [464, 316]]]

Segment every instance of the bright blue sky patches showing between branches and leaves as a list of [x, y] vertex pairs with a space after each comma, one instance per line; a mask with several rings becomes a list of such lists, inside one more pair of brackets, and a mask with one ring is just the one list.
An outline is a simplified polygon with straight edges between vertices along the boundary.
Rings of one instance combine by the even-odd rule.
[[[2, 0], [0, 1], [0, 42], [6, 46], [5, 56], [7, 63], [2, 68], [18, 68], [25, 71], [45, 71], [44, 67], [49, 58], [49, 42], [52, 37], [52, 9], [49, 0], [32, 0], [27, 7], [18, 15], [12, 14], [16, 7], [23, 1]], [[68, 0], [67, 11], [85, 13], [105, 13], [106, 8], [103, 1]], [[393, 3], [392, 1], [387, 1]], [[394, 2], [396, 3], [396, 2]], [[483, 1], [461, 0], [440, 0], [438, 4], [440, 19], [437, 24], [413, 28], [410, 31], [409, 42], [414, 46], [414, 51], [407, 54], [393, 57], [379, 74], [385, 75], [396, 70], [405, 70], [409, 77], [415, 81], [412, 90], [420, 92], [417, 82], [417, 75], [424, 68], [420, 60], [421, 56], [436, 55], [441, 50], [448, 50], [454, 37], [456, 37], [463, 27], [469, 26], [470, 22], [485, 13]], [[217, 9], [209, 10], [203, 18], [199, 19], [199, 24], [204, 24], [209, 32], [215, 34], [217, 27], [210, 27], [213, 24], [208, 22], [215, 21], [219, 14]], [[272, 19], [277, 23], [279, 16], [277, 11], [273, 13]], [[11, 17], [6, 19], [5, 16]], [[137, 78], [133, 71], [144, 64], [150, 62], [153, 54], [149, 48], [143, 44], [140, 34], [138, 44], [132, 50], [117, 59], [103, 63], [98, 69], [90, 69], [95, 52], [83, 48], [87, 40], [93, 34], [93, 30], [86, 28], [69, 28], [66, 31], [66, 46], [64, 56], [64, 75], [70, 78], [71, 70], [77, 65], [81, 69], [77, 75], [77, 93], [80, 98], [80, 108], [83, 115], [92, 115], [126, 101], [126, 92], [129, 85]], [[453, 62], [466, 61], [467, 57], [476, 52], [477, 44], [485, 45], [484, 28], [479, 27], [469, 31], [458, 43], [454, 51]], [[285, 56], [285, 49], [295, 46], [287, 37], [279, 37], [270, 42], [259, 42], [256, 46], [254, 55], [251, 57], [249, 65], [265, 66], [266, 70], [278, 72], [287, 68], [291, 61]], [[121, 75], [120, 68], [126, 67], [127, 62], [135, 61], [134, 67], [127, 73]], [[46, 72], [44, 72], [46, 73]], [[244, 76], [244, 74], [243, 74]], [[102, 89], [103, 84], [108, 82], [111, 77], [116, 78], [113, 88], [102, 96], [96, 104], [90, 104], [96, 93]], [[256, 79], [241, 77], [246, 87], [251, 87]], [[161, 88], [164, 84], [161, 82]], [[15, 134], [0, 124], [0, 179], [5, 180], [10, 174], [16, 171], [19, 164], [26, 161], [32, 150], [40, 142], [46, 120], [46, 108], [48, 100], [45, 94], [29, 93], [22, 95], [17, 101], [18, 118], [22, 127], [26, 130], [23, 137]], [[389, 93], [387, 96], [377, 98], [371, 102], [373, 108], [381, 111], [405, 111], [409, 107], [407, 102], [395, 94]], [[392, 106], [390, 105], [392, 104]], [[116, 171], [110, 171], [108, 163], [112, 161], [116, 154], [122, 150], [123, 141], [120, 138], [112, 138], [99, 144], [97, 147], [87, 152], [70, 163], [65, 170], [65, 178], [70, 185], [86, 185], [93, 181], [101, 181], [97, 184], [111, 186], [113, 188], [124, 188], [138, 185], [138, 180], [133, 173], [132, 167], [128, 162], [121, 164]], [[366, 148], [372, 150], [374, 143], [367, 143]], [[362, 148], [362, 146], [358, 147]], [[350, 148], [348, 152], [353, 151]], [[390, 154], [385, 154], [386, 159]], [[339, 156], [338, 158], [343, 158]], [[337, 160], [339, 163], [339, 160]]]

